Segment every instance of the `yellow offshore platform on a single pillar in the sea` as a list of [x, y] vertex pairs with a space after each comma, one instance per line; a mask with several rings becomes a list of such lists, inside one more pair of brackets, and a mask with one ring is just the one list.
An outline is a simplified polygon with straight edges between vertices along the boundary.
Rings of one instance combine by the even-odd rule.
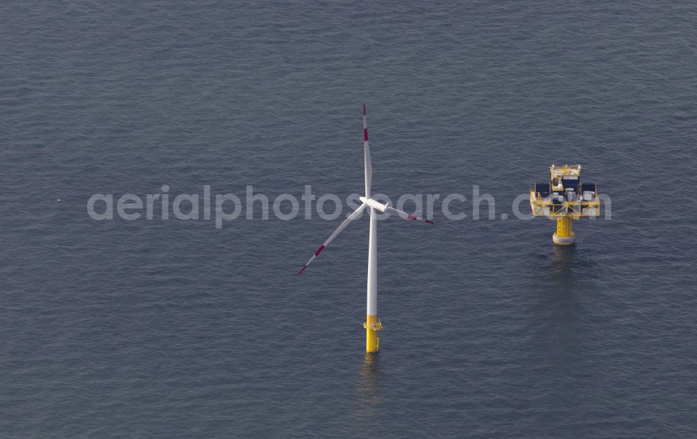
[[581, 183], [580, 164], [552, 164], [549, 171], [549, 183], [530, 186], [530, 208], [536, 217], [556, 219], [557, 233], [552, 236], [556, 245], [572, 245], [576, 240], [572, 220], [600, 216], [598, 187]]

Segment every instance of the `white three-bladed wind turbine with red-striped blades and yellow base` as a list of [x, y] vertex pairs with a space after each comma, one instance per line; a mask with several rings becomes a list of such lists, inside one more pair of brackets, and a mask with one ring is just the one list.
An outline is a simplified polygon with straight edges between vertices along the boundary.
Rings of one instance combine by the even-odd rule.
[[363, 150], [365, 154], [365, 197], [360, 197], [360, 201], [363, 203], [358, 209], [353, 211], [351, 215], [348, 215], [342, 224], [339, 224], [337, 229], [332, 233], [327, 240], [314, 252], [314, 256], [302, 265], [302, 268], [298, 272], [298, 275], [305, 271], [307, 265], [312, 263], [314, 259], [319, 256], [323, 249], [332, 243], [333, 240], [339, 233], [342, 233], [348, 223], [360, 217], [365, 208], [370, 211], [370, 232], [368, 238], [368, 297], [367, 297], [367, 307], [366, 307], [366, 318], [365, 323], [363, 323], [363, 328], [365, 328], [365, 351], [366, 352], [377, 352], [380, 348], [380, 339], [378, 337], [378, 331], [383, 329], [383, 324], [378, 320], [378, 213], [389, 213], [390, 215], [397, 215], [403, 219], [408, 219], [410, 221], [418, 220], [433, 224], [432, 221], [428, 219], [422, 219], [411, 213], [406, 213], [402, 210], [397, 210], [392, 208], [388, 204], [383, 204], [370, 197], [370, 185], [373, 179], [373, 169], [370, 165], [370, 147], [368, 145], [368, 125], [365, 119], [365, 104], [363, 104]]

